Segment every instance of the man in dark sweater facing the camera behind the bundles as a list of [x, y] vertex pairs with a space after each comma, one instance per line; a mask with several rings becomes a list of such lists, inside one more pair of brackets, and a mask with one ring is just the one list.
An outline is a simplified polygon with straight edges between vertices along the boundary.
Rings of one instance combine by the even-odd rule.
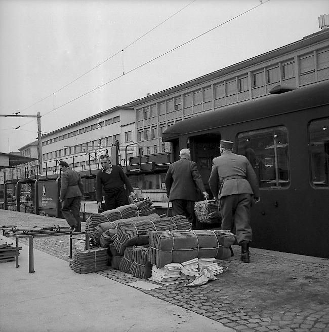
[[102, 169], [96, 175], [97, 207], [102, 209], [102, 190], [104, 190], [106, 210], [129, 204], [124, 185], [132, 198], [135, 199], [136, 194], [133, 187], [121, 167], [112, 165], [107, 155], [100, 156], [99, 162], [102, 165]]

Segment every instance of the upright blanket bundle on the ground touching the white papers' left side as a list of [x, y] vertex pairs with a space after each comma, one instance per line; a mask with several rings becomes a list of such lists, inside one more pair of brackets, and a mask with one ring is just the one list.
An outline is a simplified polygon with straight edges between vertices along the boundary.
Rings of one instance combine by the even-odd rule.
[[133, 247], [133, 263], [131, 265], [130, 273], [142, 279], [148, 279], [151, 276], [152, 265], [148, 261], [149, 246]]

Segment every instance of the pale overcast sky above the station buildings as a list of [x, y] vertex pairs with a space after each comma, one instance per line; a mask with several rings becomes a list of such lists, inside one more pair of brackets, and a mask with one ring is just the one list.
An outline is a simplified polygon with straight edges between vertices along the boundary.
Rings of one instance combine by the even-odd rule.
[[[328, 0], [0, 0], [0, 114], [40, 112], [49, 133], [301, 40], [328, 13]], [[36, 138], [36, 119], [0, 117], [0, 152]]]

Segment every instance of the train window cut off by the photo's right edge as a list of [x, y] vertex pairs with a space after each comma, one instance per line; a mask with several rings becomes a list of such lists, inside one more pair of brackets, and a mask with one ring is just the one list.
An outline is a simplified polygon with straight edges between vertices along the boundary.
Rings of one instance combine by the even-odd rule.
[[311, 181], [316, 187], [328, 187], [329, 118], [315, 120], [309, 126]]

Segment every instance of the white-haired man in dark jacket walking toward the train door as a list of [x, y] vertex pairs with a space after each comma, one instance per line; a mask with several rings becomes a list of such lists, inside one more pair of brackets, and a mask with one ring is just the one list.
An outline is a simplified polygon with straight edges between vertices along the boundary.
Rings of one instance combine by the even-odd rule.
[[195, 228], [194, 202], [198, 200], [196, 188], [208, 199], [196, 163], [190, 159], [188, 149], [179, 153], [180, 160], [172, 163], [166, 174], [167, 197], [173, 204], [173, 216], [182, 214]]

